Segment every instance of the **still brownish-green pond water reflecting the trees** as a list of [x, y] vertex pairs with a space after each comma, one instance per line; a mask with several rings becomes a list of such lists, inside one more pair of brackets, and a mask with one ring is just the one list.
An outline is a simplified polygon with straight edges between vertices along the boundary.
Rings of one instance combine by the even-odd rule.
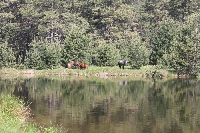
[[30, 122], [65, 133], [200, 132], [195, 79], [0, 78], [7, 94], [30, 104]]

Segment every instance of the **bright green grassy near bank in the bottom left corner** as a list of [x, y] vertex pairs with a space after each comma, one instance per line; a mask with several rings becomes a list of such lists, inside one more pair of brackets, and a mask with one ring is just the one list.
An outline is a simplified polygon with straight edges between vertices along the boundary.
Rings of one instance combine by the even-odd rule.
[[16, 97], [0, 97], [0, 132], [1, 133], [58, 133], [55, 127], [43, 128], [27, 123], [30, 109]]

